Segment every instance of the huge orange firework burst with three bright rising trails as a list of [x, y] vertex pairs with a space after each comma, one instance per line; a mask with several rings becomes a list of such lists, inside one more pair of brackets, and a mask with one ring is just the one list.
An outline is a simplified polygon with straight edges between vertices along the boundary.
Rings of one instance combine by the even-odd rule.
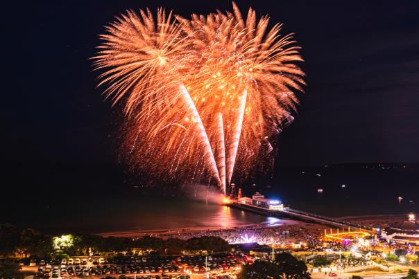
[[[164, 179], [210, 179], [225, 188], [271, 165], [275, 134], [302, 91], [302, 61], [280, 25], [234, 12], [129, 11], [108, 26], [94, 57], [105, 96], [123, 101], [123, 149], [132, 168]], [[239, 162], [239, 163], [237, 163]], [[213, 179], [213, 180], [211, 180]]]

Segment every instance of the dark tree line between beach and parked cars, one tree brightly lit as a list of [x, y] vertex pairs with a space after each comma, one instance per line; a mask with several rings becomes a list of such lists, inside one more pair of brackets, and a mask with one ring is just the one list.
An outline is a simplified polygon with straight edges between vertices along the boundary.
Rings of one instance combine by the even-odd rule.
[[102, 237], [100, 235], [74, 234], [67, 236], [67, 242], [56, 242], [53, 235], [45, 235], [33, 228], [20, 230], [10, 224], [0, 224], [0, 255], [36, 255], [49, 258], [58, 253], [68, 255], [89, 255], [89, 253], [122, 252], [132, 249], [150, 249], [153, 253], [176, 255], [183, 251], [224, 252], [229, 250], [228, 242], [221, 237], [193, 237], [189, 240], [144, 236]]

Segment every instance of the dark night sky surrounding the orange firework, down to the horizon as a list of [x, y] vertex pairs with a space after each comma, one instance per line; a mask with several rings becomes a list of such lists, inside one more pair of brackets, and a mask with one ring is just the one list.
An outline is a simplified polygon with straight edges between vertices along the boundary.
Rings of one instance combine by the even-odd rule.
[[[419, 1], [237, 3], [284, 23], [306, 60], [307, 92], [282, 134], [279, 165], [419, 161]], [[89, 61], [114, 15], [147, 6], [184, 17], [232, 10], [230, 1], [32, 5], [3, 18], [1, 158], [26, 166], [115, 163], [116, 119]]]

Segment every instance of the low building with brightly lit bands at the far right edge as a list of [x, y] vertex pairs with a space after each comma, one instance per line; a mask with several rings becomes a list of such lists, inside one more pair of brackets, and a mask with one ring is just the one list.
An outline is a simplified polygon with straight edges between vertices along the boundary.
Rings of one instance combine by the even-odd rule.
[[414, 214], [409, 214], [407, 220], [389, 226], [381, 235], [388, 242], [419, 246], [419, 221]]

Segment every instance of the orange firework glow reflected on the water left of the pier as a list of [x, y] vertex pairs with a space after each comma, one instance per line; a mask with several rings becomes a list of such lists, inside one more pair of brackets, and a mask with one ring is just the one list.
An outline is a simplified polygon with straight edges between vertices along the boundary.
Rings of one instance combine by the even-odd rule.
[[[110, 206], [103, 206], [107, 204]], [[291, 220], [266, 217], [243, 210], [205, 204], [202, 201], [167, 198], [132, 198], [78, 205], [78, 210], [60, 211], [60, 216], [42, 215], [32, 220], [48, 231], [109, 233], [121, 231], [166, 231], [184, 228], [225, 228], [249, 225], [277, 226]], [[96, 210], [100, 208], [100, 210]], [[94, 210], [92, 210], [94, 209]], [[100, 213], [100, 214], [99, 214]], [[48, 222], [46, 222], [48, 220]]]

